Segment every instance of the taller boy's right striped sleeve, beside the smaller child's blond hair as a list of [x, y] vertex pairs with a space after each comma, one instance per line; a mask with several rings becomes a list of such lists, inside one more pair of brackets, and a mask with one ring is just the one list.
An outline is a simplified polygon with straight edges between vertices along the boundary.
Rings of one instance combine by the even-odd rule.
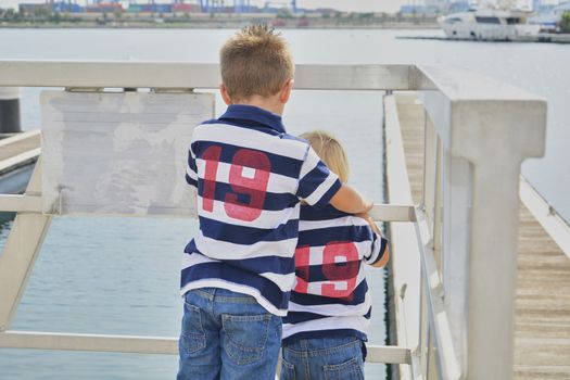
[[342, 187], [339, 177], [329, 170], [327, 165], [311, 145], [301, 166], [296, 197], [316, 210], [329, 204], [330, 200]]

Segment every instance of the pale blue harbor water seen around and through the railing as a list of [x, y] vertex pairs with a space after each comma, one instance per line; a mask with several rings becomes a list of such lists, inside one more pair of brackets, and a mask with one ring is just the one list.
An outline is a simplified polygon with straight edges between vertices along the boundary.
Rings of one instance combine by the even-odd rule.
[[[0, 30], [7, 59], [216, 62], [232, 30]], [[297, 63], [406, 63], [466, 67], [548, 100], [547, 155], [523, 173], [570, 218], [570, 50], [556, 45], [402, 40], [433, 30], [284, 30]], [[39, 89], [25, 89], [24, 129], [39, 127]], [[218, 100], [217, 114], [223, 112]], [[382, 202], [381, 93], [297, 91], [286, 111], [290, 132], [325, 128], [346, 144], [352, 182]], [[9, 224], [2, 228], [0, 245]], [[178, 264], [192, 220], [56, 218], [31, 276], [14, 328], [176, 335], [181, 316]], [[384, 343], [384, 273], [375, 292], [371, 341]], [[173, 378], [176, 357], [0, 350], [0, 378]], [[382, 379], [383, 366], [368, 368]]]

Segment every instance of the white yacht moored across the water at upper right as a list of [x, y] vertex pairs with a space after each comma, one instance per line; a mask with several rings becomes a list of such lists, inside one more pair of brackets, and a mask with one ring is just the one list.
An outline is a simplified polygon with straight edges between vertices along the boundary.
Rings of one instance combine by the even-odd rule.
[[453, 13], [438, 20], [451, 39], [509, 41], [537, 36], [539, 25], [527, 24], [529, 12], [473, 10]]

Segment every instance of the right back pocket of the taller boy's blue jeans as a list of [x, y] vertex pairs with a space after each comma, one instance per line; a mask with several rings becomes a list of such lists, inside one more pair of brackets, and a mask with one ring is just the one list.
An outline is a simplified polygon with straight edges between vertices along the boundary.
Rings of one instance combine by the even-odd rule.
[[236, 365], [243, 366], [262, 359], [270, 320], [270, 314], [221, 315], [224, 349]]

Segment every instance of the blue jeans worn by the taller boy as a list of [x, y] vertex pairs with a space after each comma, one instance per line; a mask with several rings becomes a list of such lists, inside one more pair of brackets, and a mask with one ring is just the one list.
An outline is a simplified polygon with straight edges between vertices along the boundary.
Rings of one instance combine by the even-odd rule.
[[226, 289], [190, 290], [185, 299], [178, 380], [275, 378], [281, 317]]

